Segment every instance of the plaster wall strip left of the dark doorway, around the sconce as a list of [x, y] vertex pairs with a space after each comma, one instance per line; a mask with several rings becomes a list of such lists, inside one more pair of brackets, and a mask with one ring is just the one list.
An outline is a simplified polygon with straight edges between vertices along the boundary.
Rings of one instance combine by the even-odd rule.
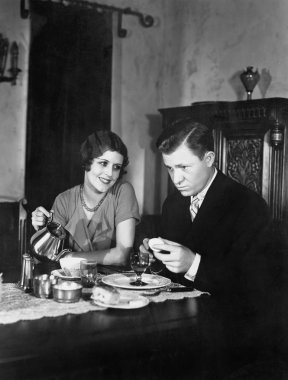
[[[26, 109], [28, 83], [29, 22], [20, 18], [20, 2], [1, 0], [0, 33], [19, 46], [18, 67], [22, 70], [16, 86], [0, 83], [0, 202], [24, 197]], [[10, 55], [5, 75], [9, 76]]]

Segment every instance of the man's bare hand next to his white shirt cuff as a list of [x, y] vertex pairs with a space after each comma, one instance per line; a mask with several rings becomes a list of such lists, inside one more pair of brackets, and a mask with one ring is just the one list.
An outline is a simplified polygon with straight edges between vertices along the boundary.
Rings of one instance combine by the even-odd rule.
[[193, 253], [189, 248], [184, 247], [181, 244], [175, 243], [167, 239], [162, 240], [163, 244], [155, 244], [155, 249], [168, 251], [170, 253], [161, 254], [160, 252], [154, 251], [154, 256], [158, 260], [162, 261], [166, 268], [169, 269], [171, 272], [187, 272], [193, 263], [195, 253]]

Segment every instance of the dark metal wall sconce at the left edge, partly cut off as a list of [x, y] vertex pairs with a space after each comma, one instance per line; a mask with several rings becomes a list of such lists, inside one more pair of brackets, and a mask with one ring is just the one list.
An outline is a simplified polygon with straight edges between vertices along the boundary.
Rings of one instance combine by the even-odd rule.
[[4, 38], [2, 34], [0, 34], [0, 82], [11, 82], [12, 86], [15, 86], [16, 79], [21, 71], [18, 69], [18, 55], [19, 49], [18, 45], [14, 41], [10, 48], [10, 57], [11, 57], [11, 67], [8, 70], [11, 75], [9, 77], [4, 76], [6, 69], [6, 62], [9, 53], [9, 41], [7, 38]]

